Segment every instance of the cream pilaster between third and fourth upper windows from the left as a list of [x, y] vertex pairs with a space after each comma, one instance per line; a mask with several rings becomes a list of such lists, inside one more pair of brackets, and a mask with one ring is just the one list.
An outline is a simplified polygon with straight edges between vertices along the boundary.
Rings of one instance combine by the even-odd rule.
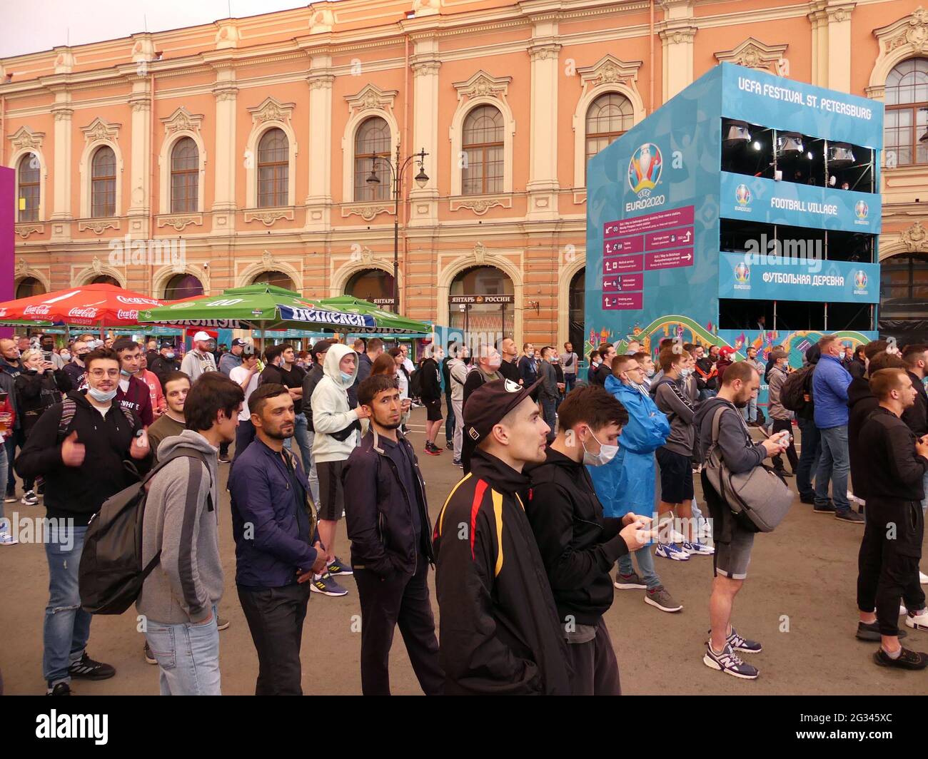
[[215, 190], [213, 199], [213, 232], [231, 233], [235, 229], [235, 178], [241, 161], [257, 161], [257, 156], [236, 154], [236, 104], [238, 87], [235, 70], [224, 66], [217, 71], [213, 86], [216, 98], [216, 160], [213, 163]]

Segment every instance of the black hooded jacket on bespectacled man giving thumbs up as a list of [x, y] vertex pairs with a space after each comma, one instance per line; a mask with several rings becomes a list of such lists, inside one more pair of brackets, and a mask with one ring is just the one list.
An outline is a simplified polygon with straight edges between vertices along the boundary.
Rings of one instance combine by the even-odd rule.
[[77, 432], [77, 442], [84, 444], [84, 463], [68, 467], [61, 460], [58, 425], [64, 406], [56, 404], [35, 423], [15, 466], [24, 479], [45, 478], [48, 517], [71, 517], [75, 525], [82, 527], [110, 495], [137, 482], [123, 462], [132, 459], [129, 445], [141, 421], [133, 415], [130, 423], [115, 398], [103, 416], [84, 392], [71, 391], [68, 397], [76, 405], [68, 433]]

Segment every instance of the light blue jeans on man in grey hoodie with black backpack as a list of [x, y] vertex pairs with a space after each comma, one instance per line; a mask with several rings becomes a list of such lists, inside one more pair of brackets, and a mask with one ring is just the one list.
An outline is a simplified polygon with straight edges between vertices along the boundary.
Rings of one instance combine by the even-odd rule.
[[218, 610], [207, 624], [148, 620], [145, 637], [158, 660], [162, 696], [221, 696]]

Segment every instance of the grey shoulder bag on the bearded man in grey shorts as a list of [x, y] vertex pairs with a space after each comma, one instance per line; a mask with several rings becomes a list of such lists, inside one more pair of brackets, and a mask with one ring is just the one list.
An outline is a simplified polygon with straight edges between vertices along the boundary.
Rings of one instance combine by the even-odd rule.
[[793, 491], [780, 475], [763, 464], [739, 474], [728, 470], [718, 447], [718, 425], [727, 408], [723, 405], [715, 409], [712, 418], [712, 444], [705, 458], [706, 478], [742, 529], [771, 533], [793, 505]]

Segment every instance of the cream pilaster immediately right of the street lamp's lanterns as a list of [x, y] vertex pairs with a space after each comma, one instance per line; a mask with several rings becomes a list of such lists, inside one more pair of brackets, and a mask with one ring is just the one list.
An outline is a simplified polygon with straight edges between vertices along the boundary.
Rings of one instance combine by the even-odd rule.
[[438, 225], [438, 71], [442, 62], [438, 59], [438, 40], [429, 36], [416, 40], [415, 53], [411, 59], [413, 71], [412, 144], [403, 146], [403, 159], [425, 148], [425, 173], [429, 181], [419, 187], [413, 180], [419, 168], [411, 165], [406, 172], [409, 187], [409, 225]]

